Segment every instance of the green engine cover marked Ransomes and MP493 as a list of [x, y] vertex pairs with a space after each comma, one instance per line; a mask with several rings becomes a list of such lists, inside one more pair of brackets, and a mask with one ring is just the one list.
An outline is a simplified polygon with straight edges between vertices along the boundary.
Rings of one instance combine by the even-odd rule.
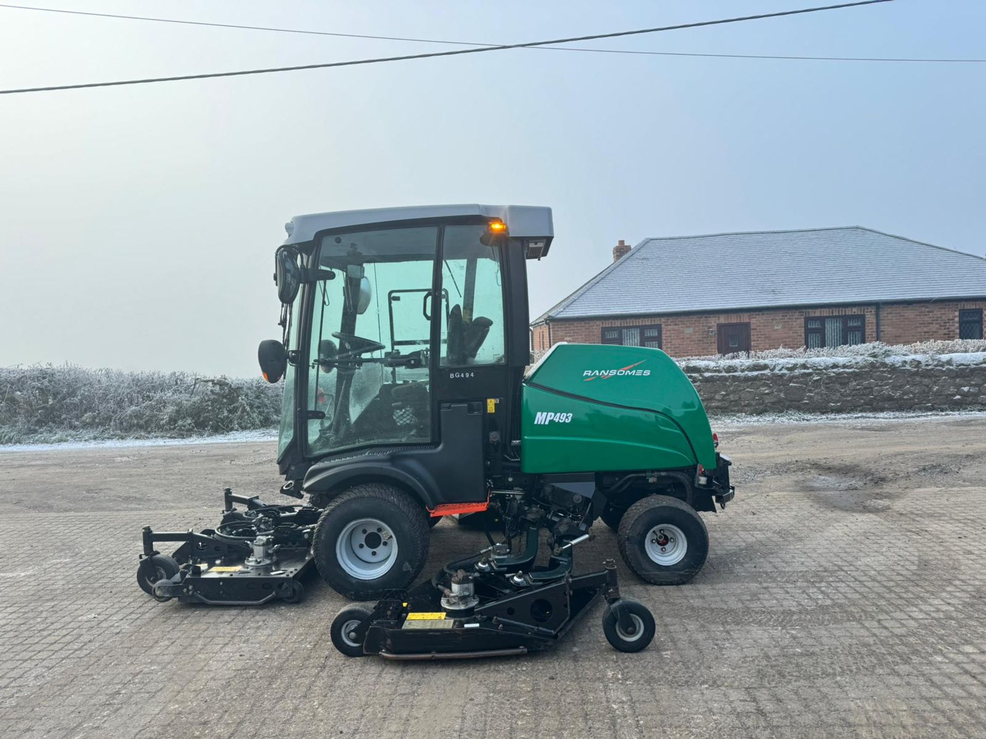
[[525, 472], [716, 467], [702, 401], [660, 349], [556, 344], [522, 400]]

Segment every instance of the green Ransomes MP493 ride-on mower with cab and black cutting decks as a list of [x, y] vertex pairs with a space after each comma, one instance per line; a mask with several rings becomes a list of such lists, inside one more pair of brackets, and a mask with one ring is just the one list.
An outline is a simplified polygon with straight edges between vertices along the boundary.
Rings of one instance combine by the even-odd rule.
[[[558, 344], [529, 366], [526, 264], [548, 253], [551, 211], [348, 211], [286, 229], [284, 335], [259, 360], [284, 378], [280, 492], [305, 503], [227, 490], [215, 529], [146, 527], [141, 587], [297, 602], [314, 567], [347, 598], [378, 601], [336, 617], [335, 646], [397, 659], [546, 648], [601, 595], [610, 643], [646, 647], [654, 618], [621, 597], [613, 561], [577, 575], [573, 549], [601, 518], [630, 570], [687, 582], [709, 546], [698, 512], [734, 496], [730, 461], [659, 349]], [[490, 546], [411, 588], [445, 515]], [[155, 549], [166, 541], [181, 543], [171, 556]]]

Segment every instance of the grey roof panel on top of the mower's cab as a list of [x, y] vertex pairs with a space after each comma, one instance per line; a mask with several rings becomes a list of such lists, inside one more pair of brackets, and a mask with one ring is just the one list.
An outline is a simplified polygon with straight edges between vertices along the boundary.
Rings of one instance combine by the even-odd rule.
[[315, 238], [319, 231], [345, 229], [355, 226], [372, 226], [391, 221], [418, 221], [421, 219], [480, 216], [499, 218], [507, 224], [511, 236], [545, 237], [550, 242], [554, 236], [551, 209], [532, 205], [410, 205], [400, 208], [372, 208], [360, 211], [335, 211], [295, 216], [284, 225], [288, 237], [285, 244], [305, 243]]

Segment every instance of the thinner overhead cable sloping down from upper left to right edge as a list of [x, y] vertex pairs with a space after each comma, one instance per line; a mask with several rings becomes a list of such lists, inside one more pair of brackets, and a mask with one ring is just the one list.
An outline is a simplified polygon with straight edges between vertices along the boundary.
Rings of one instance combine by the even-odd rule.
[[[207, 21], [184, 21], [176, 18], [152, 18], [149, 16], [125, 16], [118, 13], [93, 13], [82, 10], [62, 10], [60, 8], [36, 8], [31, 5], [11, 5], [0, 3], [0, 8], [34, 10], [43, 13], [63, 13], [73, 16], [93, 16], [96, 18], [115, 18], [125, 21], [150, 21], [152, 23], [171, 23], [182, 26], [206, 26], [218, 29], [240, 29], [244, 31], [272, 31], [279, 34], [330, 35], [341, 38], [369, 38], [383, 41], [411, 41], [413, 43], [443, 43], [453, 46], [491, 46], [496, 44], [479, 41], [454, 41], [448, 38], [416, 38], [400, 35], [342, 34], [333, 31], [311, 31], [308, 29], [282, 29], [272, 26], [242, 26], [232, 23], [209, 23]], [[849, 62], [932, 62], [947, 64], [983, 64], [986, 59], [928, 58], [928, 57], [889, 57], [889, 56], [806, 56], [802, 54], [715, 54], [699, 51], [643, 51], [638, 49], [586, 48], [585, 46], [527, 46], [536, 51], [578, 51], [596, 54], [639, 54], [644, 56], [695, 56], [712, 59], [782, 59], [799, 61], [849, 61]]]

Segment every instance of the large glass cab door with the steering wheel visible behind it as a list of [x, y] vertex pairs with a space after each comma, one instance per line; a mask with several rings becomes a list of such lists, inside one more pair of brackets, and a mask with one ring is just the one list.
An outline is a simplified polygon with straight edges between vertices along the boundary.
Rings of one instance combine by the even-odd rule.
[[427, 444], [441, 229], [407, 225], [329, 232], [317, 267], [310, 336], [307, 456], [355, 447]]

